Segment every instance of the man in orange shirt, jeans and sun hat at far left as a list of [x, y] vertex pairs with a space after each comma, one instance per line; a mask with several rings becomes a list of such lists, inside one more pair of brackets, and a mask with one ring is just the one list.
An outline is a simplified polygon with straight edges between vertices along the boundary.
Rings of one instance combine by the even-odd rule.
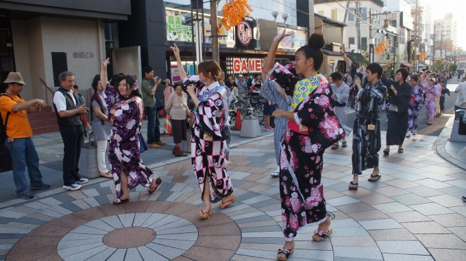
[[[34, 99], [25, 101], [19, 95], [25, 85], [19, 72], [10, 72], [3, 83], [8, 83], [8, 88], [0, 96], [0, 113], [6, 124], [7, 138], [5, 146], [10, 150], [12, 157], [12, 171], [16, 194], [25, 200], [34, 197], [30, 190], [49, 189], [49, 184], [42, 182], [42, 174], [39, 170], [39, 156], [32, 142], [32, 128], [27, 119], [27, 113], [40, 111], [45, 106], [45, 100]], [[29, 174], [30, 186], [28, 189], [25, 169]]]

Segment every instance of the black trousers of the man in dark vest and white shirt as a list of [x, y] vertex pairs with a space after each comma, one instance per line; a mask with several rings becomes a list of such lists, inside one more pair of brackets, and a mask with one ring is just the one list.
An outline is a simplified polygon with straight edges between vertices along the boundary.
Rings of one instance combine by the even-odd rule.
[[83, 139], [82, 126], [60, 126], [60, 134], [64, 143], [63, 184], [75, 184], [79, 176], [79, 156]]

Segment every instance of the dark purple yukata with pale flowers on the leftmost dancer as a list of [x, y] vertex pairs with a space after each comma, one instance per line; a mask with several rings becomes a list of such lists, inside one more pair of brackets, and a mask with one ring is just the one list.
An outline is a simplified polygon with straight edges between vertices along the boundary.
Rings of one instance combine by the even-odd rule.
[[121, 197], [121, 167], [125, 169], [128, 187], [133, 189], [138, 184], [149, 189], [151, 181], [157, 176], [143, 165], [140, 159], [140, 122], [143, 120], [143, 100], [134, 96], [122, 100], [121, 96], [109, 83], [106, 87], [108, 111], [115, 109], [110, 118], [110, 143], [108, 161], [112, 165], [116, 197]]

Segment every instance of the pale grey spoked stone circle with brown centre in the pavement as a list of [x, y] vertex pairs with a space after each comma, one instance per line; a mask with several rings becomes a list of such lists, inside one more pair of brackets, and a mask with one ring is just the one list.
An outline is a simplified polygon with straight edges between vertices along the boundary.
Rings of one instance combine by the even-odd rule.
[[[63, 260], [116, 260], [132, 255], [143, 260], [181, 256], [197, 241], [196, 226], [161, 213], [129, 213], [95, 219], [71, 230], [58, 243]], [[89, 251], [91, 250], [91, 251]], [[86, 257], [88, 255], [88, 257]]]

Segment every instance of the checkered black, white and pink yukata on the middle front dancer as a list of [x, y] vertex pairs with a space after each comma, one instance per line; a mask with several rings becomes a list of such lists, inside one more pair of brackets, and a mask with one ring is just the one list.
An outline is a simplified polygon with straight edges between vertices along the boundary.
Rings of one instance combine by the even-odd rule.
[[219, 202], [233, 193], [232, 181], [225, 160], [225, 120], [230, 108], [227, 89], [214, 82], [210, 86], [193, 75], [184, 83], [195, 84], [199, 105], [195, 109], [191, 128], [191, 163], [197, 177], [201, 199], [204, 201], [204, 182], [210, 181], [210, 202]]

